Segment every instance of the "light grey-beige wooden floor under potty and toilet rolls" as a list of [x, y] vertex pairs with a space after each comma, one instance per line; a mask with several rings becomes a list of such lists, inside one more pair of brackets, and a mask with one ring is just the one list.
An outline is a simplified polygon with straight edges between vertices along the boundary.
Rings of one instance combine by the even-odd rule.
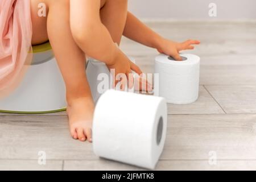
[[[148, 23], [166, 38], [201, 40], [200, 97], [168, 105], [166, 146], [156, 169], [256, 170], [256, 23]], [[157, 52], [123, 39], [122, 49], [144, 72]], [[46, 151], [47, 163], [38, 164]], [[216, 157], [216, 163], [215, 158]], [[71, 139], [65, 112], [0, 114], [0, 169], [141, 169], [99, 159], [92, 144]]]

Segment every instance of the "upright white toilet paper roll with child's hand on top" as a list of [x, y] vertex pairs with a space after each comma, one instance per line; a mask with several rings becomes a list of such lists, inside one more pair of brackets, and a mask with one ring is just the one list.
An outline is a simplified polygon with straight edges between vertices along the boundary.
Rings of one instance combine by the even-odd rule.
[[159, 78], [155, 80], [154, 94], [171, 104], [190, 104], [199, 94], [200, 57], [180, 56], [182, 61], [163, 54], [155, 58], [155, 73], [159, 73]]

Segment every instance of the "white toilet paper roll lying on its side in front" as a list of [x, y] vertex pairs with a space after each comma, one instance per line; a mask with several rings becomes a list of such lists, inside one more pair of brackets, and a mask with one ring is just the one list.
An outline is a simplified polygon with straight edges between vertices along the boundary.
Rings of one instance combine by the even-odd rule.
[[154, 169], [166, 129], [164, 98], [108, 90], [94, 111], [93, 151], [102, 158]]

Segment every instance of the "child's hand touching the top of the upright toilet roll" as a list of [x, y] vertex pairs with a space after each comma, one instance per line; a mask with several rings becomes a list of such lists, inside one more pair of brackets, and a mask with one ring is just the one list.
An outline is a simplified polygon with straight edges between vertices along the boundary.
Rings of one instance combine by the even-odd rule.
[[187, 40], [183, 43], [172, 42], [171, 40], [163, 39], [160, 42], [158, 52], [174, 57], [175, 60], [181, 61], [179, 52], [187, 49], [194, 49], [193, 44], [200, 44], [199, 40]]

